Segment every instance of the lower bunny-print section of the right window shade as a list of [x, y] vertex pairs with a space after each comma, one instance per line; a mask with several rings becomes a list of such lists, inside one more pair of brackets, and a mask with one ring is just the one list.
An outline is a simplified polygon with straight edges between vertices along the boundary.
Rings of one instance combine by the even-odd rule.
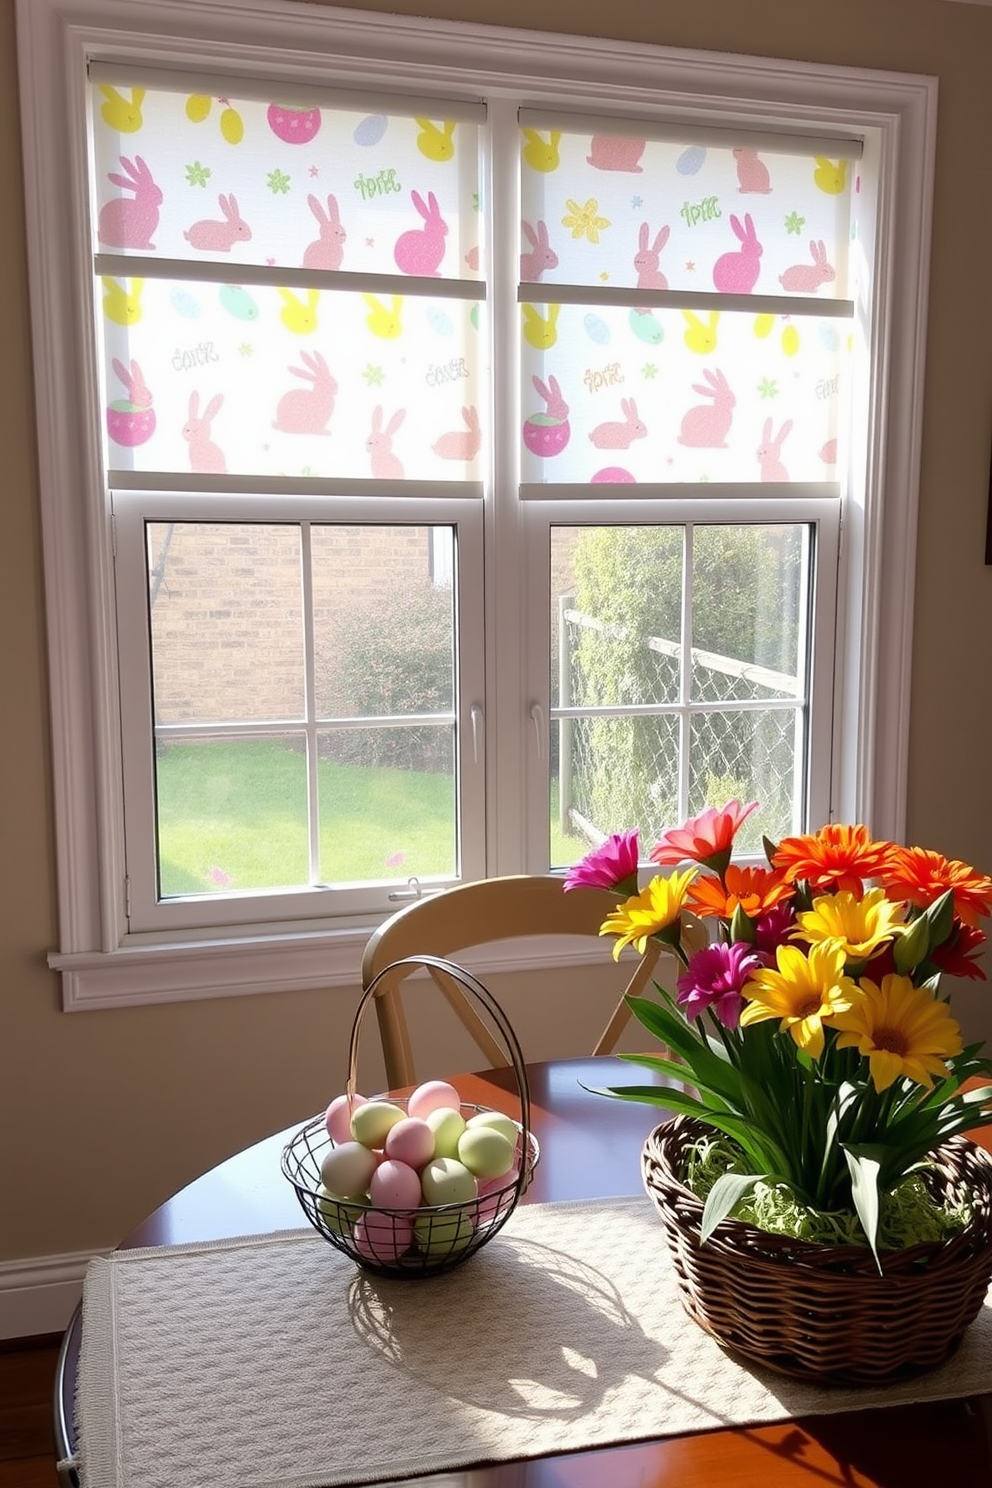
[[845, 321], [524, 305], [522, 479], [831, 481]]

